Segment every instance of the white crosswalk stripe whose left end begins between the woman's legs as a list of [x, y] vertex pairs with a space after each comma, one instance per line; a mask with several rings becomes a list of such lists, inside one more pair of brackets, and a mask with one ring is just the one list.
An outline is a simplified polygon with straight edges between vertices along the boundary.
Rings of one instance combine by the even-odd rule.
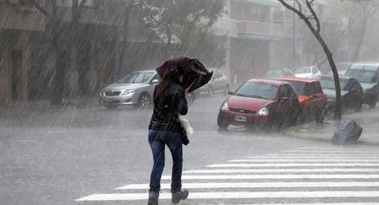
[[[379, 174], [310, 174], [310, 175], [183, 175], [182, 179], [377, 179]], [[162, 180], [171, 176], [162, 176]]]

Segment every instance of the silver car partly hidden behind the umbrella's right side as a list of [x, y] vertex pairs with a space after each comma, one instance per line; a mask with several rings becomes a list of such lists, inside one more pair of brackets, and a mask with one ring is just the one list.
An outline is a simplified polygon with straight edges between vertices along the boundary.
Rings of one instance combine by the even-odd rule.
[[210, 71], [213, 71], [212, 79], [199, 89], [199, 94], [209, 94], [210, 96], [219, 92], [226, 94], [230, 88], [226, 75], [219, 69], [210, 69]]

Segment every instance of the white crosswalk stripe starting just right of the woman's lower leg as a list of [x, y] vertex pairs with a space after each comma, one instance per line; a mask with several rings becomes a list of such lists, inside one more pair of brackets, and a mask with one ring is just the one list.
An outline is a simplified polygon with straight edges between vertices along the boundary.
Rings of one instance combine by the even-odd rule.
[[287, 172], [379, 172], [379, 169], [222, 169], [222, 170], [188, 170], [183, 174], [211, 173], [287, 173]]

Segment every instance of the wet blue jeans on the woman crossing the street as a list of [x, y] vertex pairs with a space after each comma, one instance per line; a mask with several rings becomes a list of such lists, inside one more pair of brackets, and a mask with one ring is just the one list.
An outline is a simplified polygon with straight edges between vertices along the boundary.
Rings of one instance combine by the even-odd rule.
[[150, 177], [150, 191], [159, 192], [160, 179], [164, 168], [164, 147], [171, 151], [173, 172], [171, 192], [179, 192], [182, 187], [183, 152], [181, 133], [149, 130], [149, 144], [153, 152], [154, 166]]

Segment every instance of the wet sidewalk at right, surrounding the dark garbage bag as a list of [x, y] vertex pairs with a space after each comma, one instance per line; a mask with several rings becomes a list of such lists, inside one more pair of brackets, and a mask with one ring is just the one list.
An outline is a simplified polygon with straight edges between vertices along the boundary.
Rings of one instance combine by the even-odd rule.
[[[363, 128], [359, 142], [367, 145], [379, 146], [379, 108], [369, 110], [364, 108], [360, 113], [348, 112], [342, 116], [343, 122], [355, 120]], [[330, 118], [323, 125], [317, 125], [315, 122], [286, 130], [286, 134], [295, 137], [331, 141], [336, 128], [340, 123]]]

